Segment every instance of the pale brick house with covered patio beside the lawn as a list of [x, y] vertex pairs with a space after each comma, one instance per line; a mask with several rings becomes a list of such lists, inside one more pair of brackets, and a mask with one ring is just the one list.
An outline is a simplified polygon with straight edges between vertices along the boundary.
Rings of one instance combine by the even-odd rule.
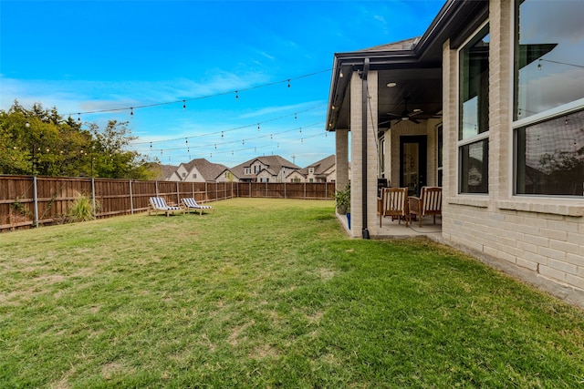
[[581, 15], [448, 0], [419, 38], [335, 54], [327, 129], [338, 189], [350, 150], [350, 234], [382, 234], [377, 179], [440, 186], [442, 241], [584, 303]]

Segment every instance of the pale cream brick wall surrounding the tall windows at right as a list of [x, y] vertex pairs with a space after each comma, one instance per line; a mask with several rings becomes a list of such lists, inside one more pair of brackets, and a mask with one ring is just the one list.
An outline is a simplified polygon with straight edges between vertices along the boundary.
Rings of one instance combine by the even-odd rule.
[[584, 302], [584, 200], [513, 196], [512, 8], [489, 10], [489, 193], [457, 193], [457, 50], [443, 46], [443, 241]]

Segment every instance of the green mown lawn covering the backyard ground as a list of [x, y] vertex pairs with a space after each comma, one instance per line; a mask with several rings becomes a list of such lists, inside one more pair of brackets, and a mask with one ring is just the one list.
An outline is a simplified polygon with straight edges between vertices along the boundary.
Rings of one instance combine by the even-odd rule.
[[0, 387], [582, 387], [584, 311], [332, 201], [0, 234]]

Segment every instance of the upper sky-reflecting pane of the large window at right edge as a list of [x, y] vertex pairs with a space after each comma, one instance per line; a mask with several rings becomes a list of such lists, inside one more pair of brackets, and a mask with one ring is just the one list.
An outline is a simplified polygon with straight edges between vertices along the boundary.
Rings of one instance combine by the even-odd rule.
[[584, 1], [516, 0], [515, 120], [584, 97]]

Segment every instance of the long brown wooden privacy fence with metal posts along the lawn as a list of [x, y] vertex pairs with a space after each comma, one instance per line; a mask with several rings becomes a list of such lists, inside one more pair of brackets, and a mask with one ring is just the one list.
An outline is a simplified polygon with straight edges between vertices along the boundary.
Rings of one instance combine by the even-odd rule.
[[335, 184], [0, 176], [0, 232], [63, 222], [79, 194], [92, 201], [96, 218], [108, 218], [148, 210], [148, 199], [153, 196], [169, 204], [179, 204], [187, 197], [197, 202], [236, 197], [331, 200]]

